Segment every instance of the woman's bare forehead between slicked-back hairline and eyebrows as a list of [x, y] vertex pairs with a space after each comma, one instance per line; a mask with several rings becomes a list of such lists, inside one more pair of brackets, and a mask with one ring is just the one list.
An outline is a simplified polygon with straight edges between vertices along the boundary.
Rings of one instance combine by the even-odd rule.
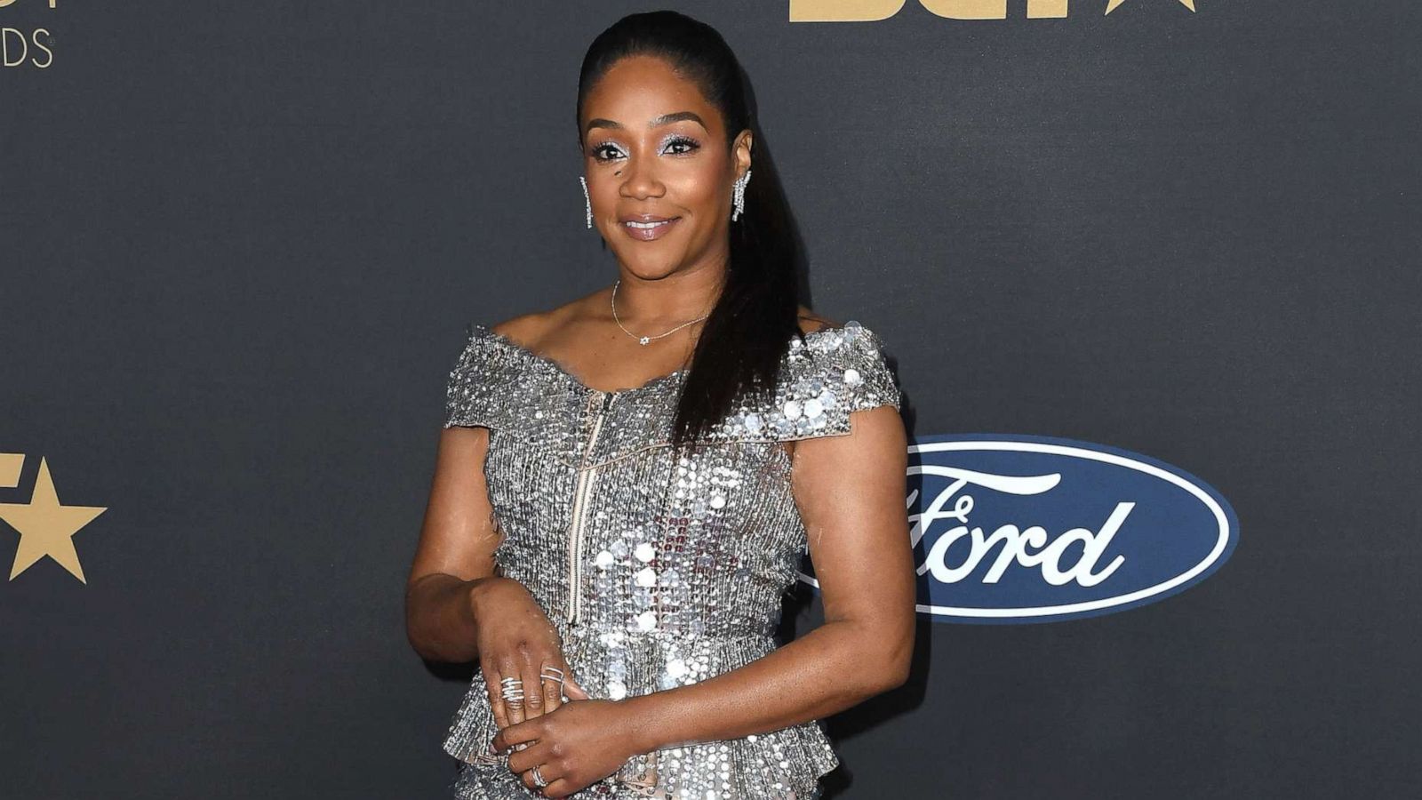
[[[721, 128], [721, 115], [701, 88], [678, 75], [671, 64], [651, 56], [629, 56], [614, 63], [583, 98], [583, 125], [593, 117], [646, 130], [647, 121], [675, 111], [695, 111], [711, 132]], [[693, 122], [695, 124], [695, 122]]]

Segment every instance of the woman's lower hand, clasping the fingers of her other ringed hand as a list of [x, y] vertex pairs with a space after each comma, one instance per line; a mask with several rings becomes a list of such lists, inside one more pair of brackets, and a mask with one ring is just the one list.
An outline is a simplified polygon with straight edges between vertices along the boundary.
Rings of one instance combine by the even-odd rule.
[[547, 781], [543, 796], [566, 797], [641, 753], [633, 717], [619, 700], [565, 703], [555, 713], [505, 727], [493, 737], [493, 749], [509, 750], [509, 770], [522, 776], [523, 786], [539, 790], [532, 772], [538, 767]]

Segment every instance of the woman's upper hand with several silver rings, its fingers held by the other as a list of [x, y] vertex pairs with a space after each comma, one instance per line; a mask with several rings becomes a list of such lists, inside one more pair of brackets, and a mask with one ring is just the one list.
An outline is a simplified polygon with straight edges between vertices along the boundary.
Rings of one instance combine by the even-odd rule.
[[[523, 584], [489, 577], [469, 592], [478, 621], [479, 668], [489, 692], [489, 706], [501, 729], [543, 716], [563, 705], [563, 695], [586, 699], [563, 659], [563, 642], [543, 608]], [[563, 683], [540, 678], [560, 670]], [[523, 682], [522, 700], [505, 700], [505, 678]]]

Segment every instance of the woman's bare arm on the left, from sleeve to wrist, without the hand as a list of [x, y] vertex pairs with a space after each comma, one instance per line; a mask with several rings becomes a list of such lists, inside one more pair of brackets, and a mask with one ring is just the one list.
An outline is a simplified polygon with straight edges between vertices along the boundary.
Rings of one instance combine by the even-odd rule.
[[489, 430], [451, 427], [439, 434], [435, 475], [419, 545], [405, 585], [405, 633], [421, 658], [479, 658], [475, 602], [499, 578], [493, 508], [483, 483]]

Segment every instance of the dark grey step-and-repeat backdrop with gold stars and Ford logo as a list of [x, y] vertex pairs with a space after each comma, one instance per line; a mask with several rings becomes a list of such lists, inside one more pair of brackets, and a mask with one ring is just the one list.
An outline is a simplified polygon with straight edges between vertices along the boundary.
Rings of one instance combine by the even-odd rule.
[[[826, 797], [1411, 796], [1418, 4], [670, 6], [906, 397], [913, 678]], [[0, 796], [447, 796], [445, 380], [616, 276], [573, 102], [640, 10], [0, 0]]]

